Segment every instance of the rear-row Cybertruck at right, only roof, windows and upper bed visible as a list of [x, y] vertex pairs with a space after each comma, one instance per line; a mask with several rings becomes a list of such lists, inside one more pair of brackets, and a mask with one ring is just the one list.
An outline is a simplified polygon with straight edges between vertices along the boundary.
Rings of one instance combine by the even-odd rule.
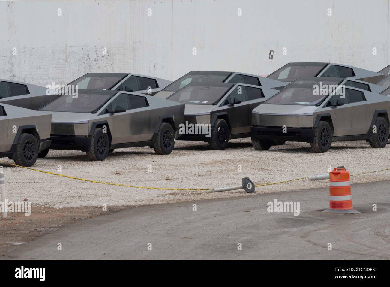
[[343, 64], [297, 62], [284, 65], [267, 78], [291, 83], [300, 77], [349, 78], [375, 84], [385, 75]]

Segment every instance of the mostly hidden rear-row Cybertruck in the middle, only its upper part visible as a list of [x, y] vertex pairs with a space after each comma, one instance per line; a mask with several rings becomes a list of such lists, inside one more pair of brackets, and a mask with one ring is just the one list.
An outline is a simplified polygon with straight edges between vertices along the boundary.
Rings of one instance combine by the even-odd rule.
[[191, 83], [240, 83], [274, 89], [282, 89], [282, 87], [287, 84], [286, 82], [239, 72], [191, 71], [162, 89], [161, 92], [157, 93], [155, 96], [166, 99], [179, 91], [179, 89]]

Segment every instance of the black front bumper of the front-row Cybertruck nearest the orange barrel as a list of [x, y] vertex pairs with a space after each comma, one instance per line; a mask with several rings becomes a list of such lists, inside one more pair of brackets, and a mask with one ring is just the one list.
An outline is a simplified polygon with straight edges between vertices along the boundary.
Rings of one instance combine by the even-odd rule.
[[282, 127], [251, 127], [251, 138], [253, 141], [301, 141], [313, 143], [314, 128], [287, 128], [283, 132]]

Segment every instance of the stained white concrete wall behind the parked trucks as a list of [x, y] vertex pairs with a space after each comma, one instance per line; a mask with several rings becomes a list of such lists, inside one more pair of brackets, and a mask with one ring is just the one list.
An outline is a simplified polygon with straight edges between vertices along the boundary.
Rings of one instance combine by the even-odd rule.
[[294, 61], [389, 64], [389, 0], [2, 1], [0, 24], [0, 78], [42, 86], [87, 72], [174, 80], [191, 70], [268, 75]]

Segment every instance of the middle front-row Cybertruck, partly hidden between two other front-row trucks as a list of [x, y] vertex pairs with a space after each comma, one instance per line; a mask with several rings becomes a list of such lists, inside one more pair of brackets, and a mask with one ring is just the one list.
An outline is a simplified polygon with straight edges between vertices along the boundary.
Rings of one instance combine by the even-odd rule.
[[250, 137], [252, 110], [277, 92], [248, 84], [188, 84], [167, 98], [185, 104], [177, 140], [205, 141], [224, 150], [229, 139]]

